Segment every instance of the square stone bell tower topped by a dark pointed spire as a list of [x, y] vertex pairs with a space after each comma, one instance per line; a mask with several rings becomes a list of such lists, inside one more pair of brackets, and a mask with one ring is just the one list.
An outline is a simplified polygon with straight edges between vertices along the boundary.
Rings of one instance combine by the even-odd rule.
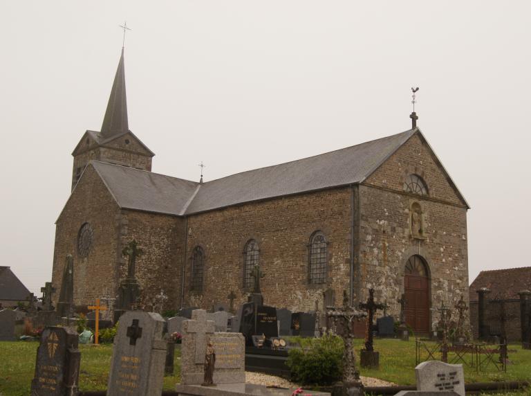
[[151, 171], [155, 154], [129, 130], [125, 94], [124, 48], [114, 77], [100, 132], [86, 131], [72, 152], [72, 190], [89, 161], [102, 161]]

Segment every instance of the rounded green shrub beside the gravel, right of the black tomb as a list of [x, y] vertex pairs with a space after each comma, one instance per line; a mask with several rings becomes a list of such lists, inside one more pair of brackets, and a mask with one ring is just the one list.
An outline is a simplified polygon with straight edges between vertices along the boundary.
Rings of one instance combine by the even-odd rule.
[[290, 349], [286, 364], [293, 380], [300, 384], [322, 385], [339, 381], [342, 375], [343, 340], [334, 334], [325, 334], [319, 339], [309, 339], [308, 344], [306, 348]]

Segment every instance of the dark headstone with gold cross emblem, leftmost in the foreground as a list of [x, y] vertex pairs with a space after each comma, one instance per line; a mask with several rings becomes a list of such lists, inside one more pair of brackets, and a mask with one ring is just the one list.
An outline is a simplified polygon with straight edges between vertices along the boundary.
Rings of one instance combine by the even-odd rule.
[[81, 354], [77, 332], [68, 327], [46, 327], [37, 348], [31, 394], [39, 396], [77, 395]]

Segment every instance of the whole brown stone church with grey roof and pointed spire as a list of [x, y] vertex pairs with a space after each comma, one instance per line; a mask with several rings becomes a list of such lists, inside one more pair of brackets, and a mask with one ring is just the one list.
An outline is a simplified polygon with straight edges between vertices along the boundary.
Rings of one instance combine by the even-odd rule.
[[71, 254], [75, 305], [114, 297], [135, 239], [142, 298], [163, 291], [168, 309], [210, 309], [229, 294], [237, 306], [259, 264], [268, 305], [308, 312], [373, 287], [395, 316], [405, 293], [409, 324], [427, 333], [432, 307], [468, 300], [469, 206], [411, 118], [406, 132], [342, 150], [179, 179], [151, 172], [153, 152], [129, 130], [122, 50], [101, 131], [86, 131], [72, 153], [53, 286]]

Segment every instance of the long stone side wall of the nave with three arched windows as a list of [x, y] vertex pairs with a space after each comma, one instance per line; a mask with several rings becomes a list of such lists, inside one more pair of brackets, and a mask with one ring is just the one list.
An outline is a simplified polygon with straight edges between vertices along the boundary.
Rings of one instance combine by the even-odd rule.
[[[322, 309], [322, 291], [328, 287], [340, 303], [350, 272], [351, 193], [339, 188], [190, 216], [185, 305], [210, 309], [214, 303], [228, 303], [230, 291], [237, 296], [235, 307], [246, 301], [250, 290], [243, 288], [243, 249], [250, 239], [259, 244], [266, 305], [310, 311], [318, 299]], [[308, 243], [317, 230], [328, 241], [328, 282], [308, 285]], [[195, 246], [205, 251], [202, 293], [190, 291]]]

